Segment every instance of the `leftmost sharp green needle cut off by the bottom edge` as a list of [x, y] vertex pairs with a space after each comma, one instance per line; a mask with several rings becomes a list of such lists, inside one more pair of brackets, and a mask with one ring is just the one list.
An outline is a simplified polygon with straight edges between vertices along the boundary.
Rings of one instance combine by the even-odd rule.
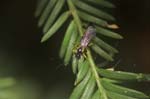
[[91, 77], [91, 72], [88, 71], [88, 73], [87, 73], [86, 77], [84, 78], [84, 80], [74, 88], [74, 90], [73, 90], [73, 92], [72, 92], [69, 99], [79, 99], [81, 97], [81, 95], [82, 95], [82, 93], [83, 93], [90, 77]]

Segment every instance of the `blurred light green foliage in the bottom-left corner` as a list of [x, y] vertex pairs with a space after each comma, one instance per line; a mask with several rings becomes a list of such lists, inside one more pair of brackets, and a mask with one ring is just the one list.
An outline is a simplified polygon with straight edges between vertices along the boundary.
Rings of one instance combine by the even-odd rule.
[[33, 81], [0, 79], [0, 99], [39, 99], [39, 89]]

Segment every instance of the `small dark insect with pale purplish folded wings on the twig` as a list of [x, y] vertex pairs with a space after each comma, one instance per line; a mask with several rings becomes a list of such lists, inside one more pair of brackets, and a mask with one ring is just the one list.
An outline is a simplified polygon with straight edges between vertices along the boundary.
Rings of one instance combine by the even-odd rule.
[[96, 30], [93, 26], [89, 26], [81, 38], [80, 45], [77, 48], [75, 56], [77, 59], [80, 59], [81, 55], [86, 57], [84, 53], [86, 53], [86, 48], [89, 45], [90, 41], [96, 35]]

